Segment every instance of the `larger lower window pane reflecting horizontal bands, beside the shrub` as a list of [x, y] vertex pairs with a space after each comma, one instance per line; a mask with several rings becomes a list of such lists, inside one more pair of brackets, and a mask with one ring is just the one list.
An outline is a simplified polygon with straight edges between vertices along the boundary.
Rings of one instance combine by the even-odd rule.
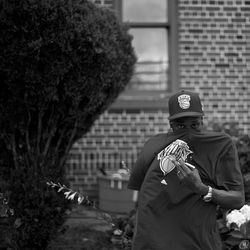
[[168, 71], [167, 30], [164, 28], [133, 28], [133, 46], [138, 61], [131, 88], [166, 90]]

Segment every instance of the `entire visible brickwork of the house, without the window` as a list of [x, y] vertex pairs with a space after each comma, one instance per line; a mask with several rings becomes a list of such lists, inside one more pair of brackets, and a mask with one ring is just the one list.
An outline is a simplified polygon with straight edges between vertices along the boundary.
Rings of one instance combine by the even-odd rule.
[[[112, 6], [112, 1], [95, 1]], [[180, 88], [200, 93], [205, 124], [236, 122], [250, 132], [250, 0], [178, 0]], [[107, 5], [106, 5], [107, 6]], [[133, 165], [152, 135], [168, 130], [159, 110], [109, 110], [73, 146], [71, 186], [97, 195], [97, 169]]]

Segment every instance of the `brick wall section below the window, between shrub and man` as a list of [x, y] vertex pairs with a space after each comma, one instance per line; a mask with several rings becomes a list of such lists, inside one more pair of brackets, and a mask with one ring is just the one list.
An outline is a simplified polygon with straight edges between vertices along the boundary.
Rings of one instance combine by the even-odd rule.
[[71, 187], [96, 196], [98, 168], [118, 169], [122, 160], [131, 167], [145, 141], [167, 129], [167, 114], [160, 110], [105, 112], [71, 150], [67, 162]]

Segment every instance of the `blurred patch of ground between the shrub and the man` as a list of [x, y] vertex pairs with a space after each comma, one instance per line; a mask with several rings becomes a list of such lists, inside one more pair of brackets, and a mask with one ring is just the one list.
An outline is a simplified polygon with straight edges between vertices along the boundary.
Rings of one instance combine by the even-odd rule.
[[111, 242], [111, 232], [112, 226], [100, 211], [77, 206], [48, 250], [124, 250], [124, 246]]

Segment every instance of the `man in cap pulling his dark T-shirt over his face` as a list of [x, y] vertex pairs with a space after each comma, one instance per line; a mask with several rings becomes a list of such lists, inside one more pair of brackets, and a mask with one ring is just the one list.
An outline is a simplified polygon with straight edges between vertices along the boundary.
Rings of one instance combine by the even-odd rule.
[[198, 94], [169, 99], [172, 131], [146, 142], [128, 188], [139, 190], [133, 250], [221, 250], [216, 208], [244, 204], [231, 138], [203, 131]]

